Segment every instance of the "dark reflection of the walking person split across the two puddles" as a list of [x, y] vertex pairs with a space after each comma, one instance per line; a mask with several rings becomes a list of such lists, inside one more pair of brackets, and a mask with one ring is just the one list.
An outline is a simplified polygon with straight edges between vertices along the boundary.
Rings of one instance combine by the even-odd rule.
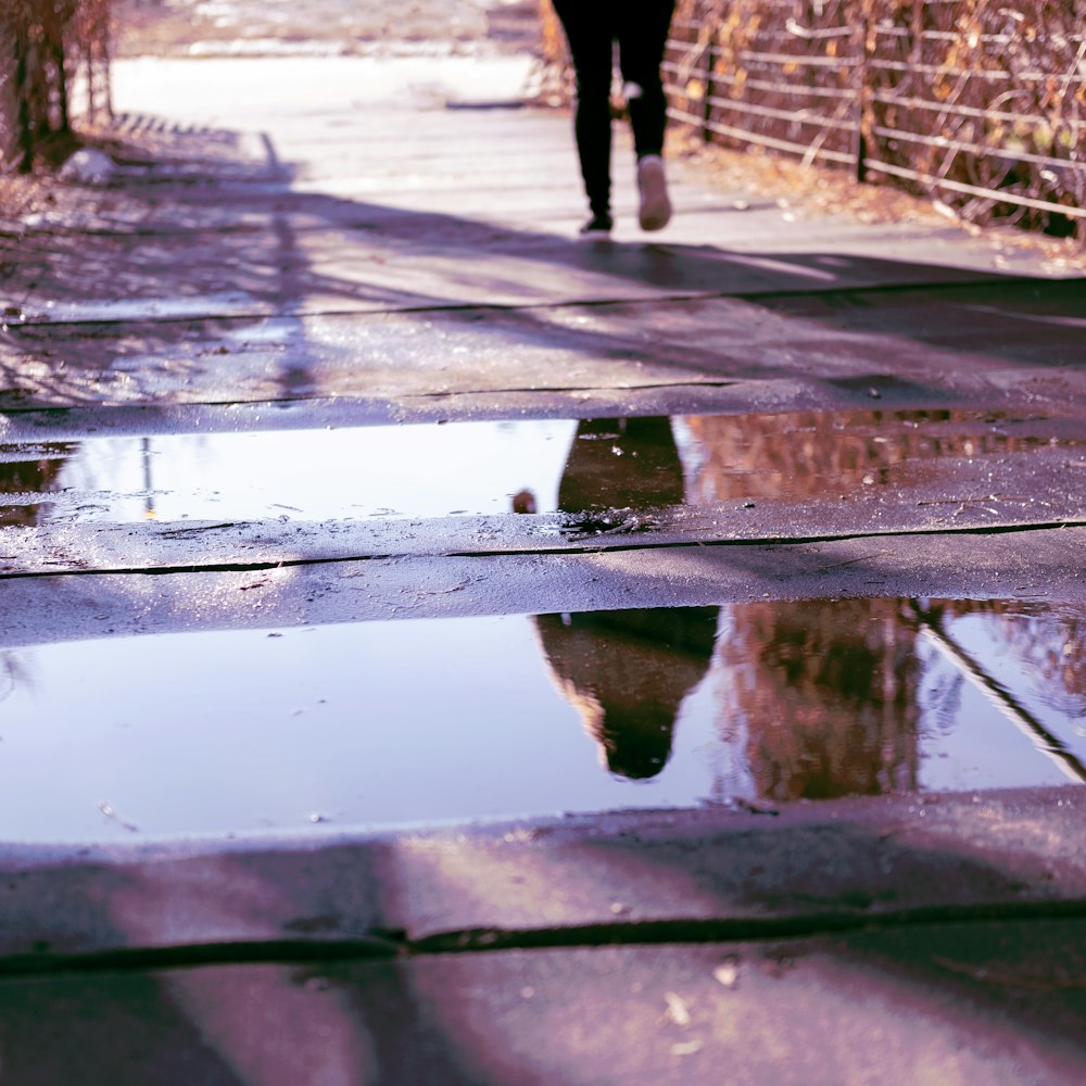
[[[558, 508], [678, 505], [683, 490], [670, 419], [584, 419], [566, 459]], [[555, 681], [610, 772], [640, 781], [667, 765], [680, 706], [712, 657], [717, 614], [658, 607], [536, 617]]]

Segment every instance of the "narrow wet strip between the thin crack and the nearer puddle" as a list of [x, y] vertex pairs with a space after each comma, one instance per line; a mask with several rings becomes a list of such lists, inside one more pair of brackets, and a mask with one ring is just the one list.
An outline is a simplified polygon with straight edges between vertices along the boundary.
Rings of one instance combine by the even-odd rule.
[[833, 597], [1086, 601], [1081, 528], [0, 579], [2, 644]]

